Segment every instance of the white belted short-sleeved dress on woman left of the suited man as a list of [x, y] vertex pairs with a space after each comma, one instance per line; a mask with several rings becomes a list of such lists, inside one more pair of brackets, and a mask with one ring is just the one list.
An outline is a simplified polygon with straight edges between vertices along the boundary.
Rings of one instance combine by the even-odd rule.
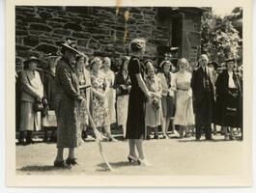
[[172, 89], [176, 90], [176, 112], [174, 124], [194, 124], [192, 90], [190, 88], [191, 73], [178, 71], [172, 80]]

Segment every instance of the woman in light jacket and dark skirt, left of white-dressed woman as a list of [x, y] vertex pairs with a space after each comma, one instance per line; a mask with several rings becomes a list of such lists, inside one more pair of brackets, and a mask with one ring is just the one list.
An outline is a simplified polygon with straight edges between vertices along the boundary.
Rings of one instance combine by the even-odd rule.
[[175, 103], [174, 103], [174, 92], [171, 89], [172, 79], [174, 73], [170, 70], [172, 68], [172, 63], [170, 61], [162, 61], [160, 66], [160, 72], [157, 76], [160, 78], [161, 81], [161, 106], [162, 106], [162, 116], [163, 116], [163, 123], [162, 123], [162, 133], [163, 138], [166, 138], [169, 124], [171, 122], [173, 132], [175, 132], [175, 127], [173, 124], [173, 117], [175, 113]]

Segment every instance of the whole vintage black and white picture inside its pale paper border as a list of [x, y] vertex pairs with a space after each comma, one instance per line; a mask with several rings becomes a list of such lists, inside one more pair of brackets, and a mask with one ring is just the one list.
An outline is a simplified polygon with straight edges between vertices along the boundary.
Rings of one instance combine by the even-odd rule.
[[15, 175], [243, 174], [243, 14], [15, 5]]

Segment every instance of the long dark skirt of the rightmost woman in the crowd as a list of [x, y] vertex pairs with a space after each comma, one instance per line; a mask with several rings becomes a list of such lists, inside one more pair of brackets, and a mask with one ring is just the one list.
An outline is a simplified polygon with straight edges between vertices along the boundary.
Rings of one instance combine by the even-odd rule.
[[228, 89], [223, 102], [222, 126], [242, 127], [242, 105], [238, 89]]

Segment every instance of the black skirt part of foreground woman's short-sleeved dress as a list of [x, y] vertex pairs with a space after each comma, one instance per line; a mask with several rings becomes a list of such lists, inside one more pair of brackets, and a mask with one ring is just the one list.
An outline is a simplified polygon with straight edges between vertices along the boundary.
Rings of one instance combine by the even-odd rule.
[[127, 139], [145, 138], [145, 101], [139, 90], [130, 91], [128, 97]]

